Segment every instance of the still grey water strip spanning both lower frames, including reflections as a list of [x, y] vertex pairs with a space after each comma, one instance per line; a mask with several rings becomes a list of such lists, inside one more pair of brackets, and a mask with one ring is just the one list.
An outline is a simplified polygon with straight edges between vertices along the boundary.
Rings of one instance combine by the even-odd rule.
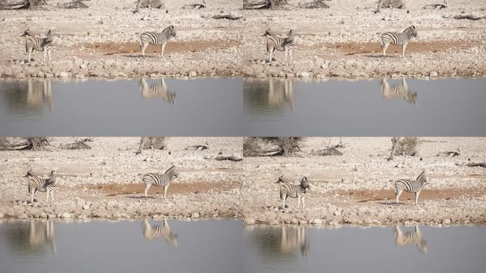
[[485, 254], [485, 226], [0, 221], [0, 272], [485, 272]]

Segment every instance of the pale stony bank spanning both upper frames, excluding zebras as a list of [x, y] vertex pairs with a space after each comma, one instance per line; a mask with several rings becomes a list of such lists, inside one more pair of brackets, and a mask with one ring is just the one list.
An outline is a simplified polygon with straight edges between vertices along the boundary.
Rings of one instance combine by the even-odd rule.
[[[374, 14], [374, 0], [329, 1], [330, 9], [291, 11], [242, 10], [239, 0], [207, 0], [207, 9], [181, 9], [192, 0], [167, 1], [166, 9], [144, 9], [133, 14], [133, 0], [92, 0], [89, 9], [52, 11], [0, 11], [0, 75], [2, 77], [414, 77], [480, 76], [486, 71], [486, 20], [443, 18], [465, 14], [484, 15], [484, 1], [458, 0], [448, 9], [422, 9], [427, 0], [408, 1], [403, 10], [383, 9]], [[290, 0], [298, 4], [297, 0]], [[359, 2], [359, 4], [357, 4]], [[111, 6], [119, 3], [116, 8]], [[168, 11], [168, 13], [166, 13]], [[233, 14], [244, 19], [203, 18]], [[156, 57], [158, 48], [148, 48], [141, 58], [139, 33], [157, 31], [173, 24], [175, 40], [166, 47], [166, 59]], [[390, 46], [382, 58], [379, 34], [403, 31], [414, 24], [419, 38], [399, 58], [399, 47]], [[26, 28], [34, 33], [55, 33], [53, 61], [24, 63]], [[265, 63], [267, 28], [296, 32], [293, 63], [283, 63], [284, 54]], [[157, 53], [155, 53], [156, 51]]]

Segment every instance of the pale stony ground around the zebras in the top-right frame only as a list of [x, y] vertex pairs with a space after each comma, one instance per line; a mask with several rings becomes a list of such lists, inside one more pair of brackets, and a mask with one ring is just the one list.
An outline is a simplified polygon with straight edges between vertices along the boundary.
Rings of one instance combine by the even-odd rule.
[[[297, 5], [301, 0], [290, 0]], [[376, 77], [377, 75], [471, 76], [484, 75], [486, 20], [455, 20], [461, 12], [484, 15], [484, 1], [448, 1], [448, 9], [422, 9], [430, 1], [405, 1], [406, 9], [382, 9], [374, 0], [328, 1], [330, 9], [293, 11], [244, 11], [244, 75], [253, 77]], [[382, 57], [380, 33], [416, 26], [419, 37], [407, 46], [390, 45]], [[288, 33], [293, 28], [296, 45], [293, 63], [284, 64], [284, 53], [265, 64], [267, 28]], [[400, 54], [399, 54], [400, 53]]]

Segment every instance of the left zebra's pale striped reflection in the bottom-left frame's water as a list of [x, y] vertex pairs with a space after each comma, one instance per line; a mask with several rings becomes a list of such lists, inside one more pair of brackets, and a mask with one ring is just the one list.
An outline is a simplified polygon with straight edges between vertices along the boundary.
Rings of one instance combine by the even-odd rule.
[[53, 221], [31, 220], [28, 238], [29, 245], [33, 248], [40, 248], [46, 242], [49, 242], [50, 250], [55, 253], [56, 246]]

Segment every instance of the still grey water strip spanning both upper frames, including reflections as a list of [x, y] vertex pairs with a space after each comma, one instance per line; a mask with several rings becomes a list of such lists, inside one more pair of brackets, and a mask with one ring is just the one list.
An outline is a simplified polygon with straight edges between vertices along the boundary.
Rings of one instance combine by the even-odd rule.
[[0, 135], [486, 136], [486, 78], [0, 80]]

